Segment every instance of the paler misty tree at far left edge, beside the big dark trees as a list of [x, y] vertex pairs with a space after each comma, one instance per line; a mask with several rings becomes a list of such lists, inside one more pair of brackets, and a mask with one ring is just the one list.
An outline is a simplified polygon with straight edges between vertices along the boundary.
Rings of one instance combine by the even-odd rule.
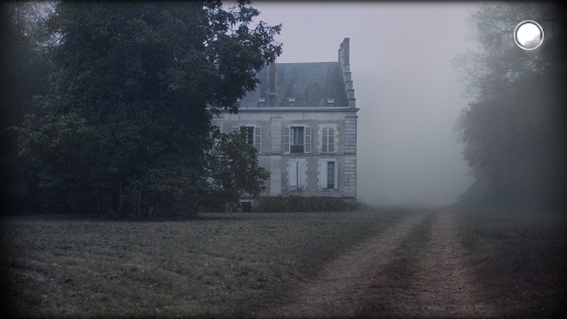
[[[18, 157], [16, 137], [8, 127], [21, 125], [37, 112], [33, 96], [49, 92], [51, 71], [44, 41], [44, 20], [52, 8], [42, 2], [0, 4], [0, 209], [32, 209], [35, 192], [32, 168]], [[19, 200], [13, 200], [18, 198]], [[12, 200], [9, 200], [12, 199]], [[23, 204], [13, 205], [13, 204]], [[19, 207], [17, 207], [19, 206]]]

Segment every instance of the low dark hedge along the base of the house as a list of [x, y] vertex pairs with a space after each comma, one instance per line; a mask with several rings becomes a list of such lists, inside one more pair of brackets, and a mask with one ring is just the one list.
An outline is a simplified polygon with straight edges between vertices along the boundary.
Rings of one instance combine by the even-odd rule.
[[300, 197], [300, 196], [269, 196], [262, 197], [256, 208], [258, 212], [348, 212], [358, 210], [359, 203], [348, 203], [341, 197]]

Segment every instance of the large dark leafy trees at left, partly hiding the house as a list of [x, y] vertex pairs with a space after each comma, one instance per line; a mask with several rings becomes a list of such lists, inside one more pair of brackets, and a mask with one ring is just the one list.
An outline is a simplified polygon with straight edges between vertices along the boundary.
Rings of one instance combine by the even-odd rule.
[[[255, 148], [210, 121], [221, 109], [237, 112], [256, 73], [281, 53], [281, 25], [252, 27], [259, 12], [249, 1], [61, 1], [37, 21], [37, 39], [14, 32], [13, 10], [2, 13], [3, 33], [23, 39], [4, 51], [37, 54], [44, 68], [2, 56], [3, 69], [21, 64], [3, 72], [11, 100], [2, 113], [13, 119], [2, 123], [11, 131], [2, 165], [25, 184], [3, 193], [24, 194], [28, 209], [147, 216], [261, 192], [268, 174]], [[28, 78], [12, 83], [22, 70]], [[30, 81], [41, 85], [10, 92]], [[233, 178], [223, 179], [227, 172]]]

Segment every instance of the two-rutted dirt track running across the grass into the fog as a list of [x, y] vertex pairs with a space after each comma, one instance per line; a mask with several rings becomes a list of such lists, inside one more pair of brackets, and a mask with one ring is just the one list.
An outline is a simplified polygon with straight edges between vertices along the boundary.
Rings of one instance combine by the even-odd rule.
[[[293, 302], [270, 305], [254, 316], [489, 317], [491, 307], [477, 301], [482, 288], [463, 267], [454, 219], [446, 210], [416, 212], [328, 264], [312, 281], [299, 282]], [[426, 231], [426, 243], [412, 235], [420, 230]], [[408, 240], [423, 249], [404, 257], [402, 245], [412, 245]], [[414, 270], [400, 276], [384, 271], [395, 269], [395, 263], [412, 264], [404, 266]]]

